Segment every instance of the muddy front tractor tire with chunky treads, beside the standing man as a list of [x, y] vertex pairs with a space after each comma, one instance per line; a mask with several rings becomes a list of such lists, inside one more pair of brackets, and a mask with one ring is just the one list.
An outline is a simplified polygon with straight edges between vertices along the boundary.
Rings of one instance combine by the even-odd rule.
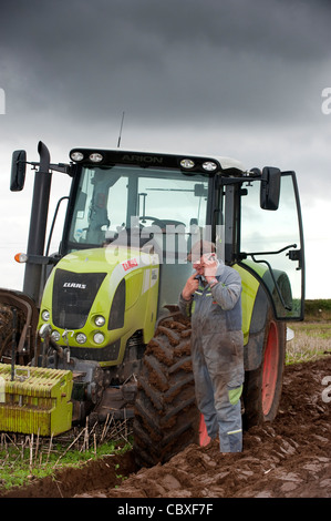
[[133, 422], [136, 463], [152, 467], [168, 461], [199, 442], [199, 429], [190, 324], [176, 313], [159, 323], [143, 358]]

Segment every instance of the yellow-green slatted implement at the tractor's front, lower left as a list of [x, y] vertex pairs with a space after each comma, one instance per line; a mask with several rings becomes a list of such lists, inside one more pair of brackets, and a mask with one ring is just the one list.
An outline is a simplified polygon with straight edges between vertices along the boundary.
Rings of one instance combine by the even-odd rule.
[[56, 436], [71, 429], [72, 372], [0, 364], [0, 431]]

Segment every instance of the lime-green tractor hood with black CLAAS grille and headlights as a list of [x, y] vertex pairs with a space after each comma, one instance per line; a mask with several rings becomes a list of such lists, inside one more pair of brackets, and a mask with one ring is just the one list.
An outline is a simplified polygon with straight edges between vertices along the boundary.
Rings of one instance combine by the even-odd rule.
[[87, 349], [89, 359], [120, 362], [131, 335], [153, 336], [157, 295], [157, 255], [115, 245], [76, 251], [52, 270], [39, 326], [49, 324], [53, 339], [79, 358]]

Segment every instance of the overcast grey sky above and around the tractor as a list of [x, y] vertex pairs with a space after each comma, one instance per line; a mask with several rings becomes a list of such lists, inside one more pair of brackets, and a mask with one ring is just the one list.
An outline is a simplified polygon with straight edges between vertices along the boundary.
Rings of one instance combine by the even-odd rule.
[[123, 147], [296, 170], [311, 263], [329, 247], [328, 214], [314, 217], [330, 192], [330, 1], [2, 0], [0, 14], [2, 245], [14, 218], [10, 244], [24, 247], [30, 213], [32, 176], [9, 193], [12, 150], [37, 161], [42, 140], [63, 162], [74, 146], [115, 147], [125, 111]]

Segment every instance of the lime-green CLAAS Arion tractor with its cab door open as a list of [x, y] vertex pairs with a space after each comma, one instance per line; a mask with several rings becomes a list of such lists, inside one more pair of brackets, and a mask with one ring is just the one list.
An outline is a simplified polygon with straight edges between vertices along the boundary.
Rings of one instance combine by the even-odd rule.
[[[190, 326], [178, 295], [209, 239], [242, 280], [247, 427], [272, 421], [286, 323], [303, 318], [294, 172], [227, 157], [39, 143], [23, 290], [0, 289], [0, 431], [56, 436], [86, 418], [132, 418], [137, 461], [208, 442], [195, 403]], [[12, 157], [11, 191], [27, 155]], [[45, 246], [53, 171], [72, 178], [59, 251]], [[54, 219], [56, 218], [58, 207]], [[51, 233], [54, 225], [51, 225]]]

